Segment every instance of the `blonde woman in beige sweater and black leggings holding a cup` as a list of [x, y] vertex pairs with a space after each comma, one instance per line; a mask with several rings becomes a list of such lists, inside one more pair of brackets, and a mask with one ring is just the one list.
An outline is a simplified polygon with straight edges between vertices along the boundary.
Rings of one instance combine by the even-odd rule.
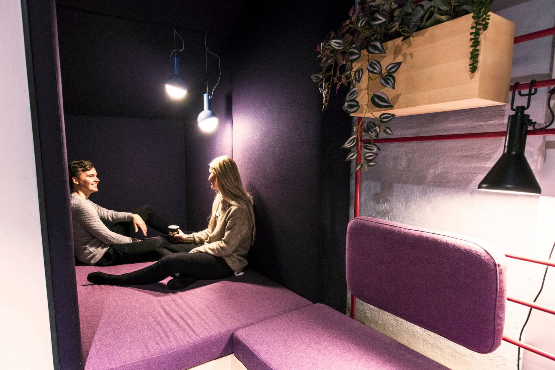
[[[94, 284], [139, 285], [177, 276], [168, 288], [180, 289], [196, 280], [220, 279], [243, 272], [246, 254], [255, 237], [253, 199], [243, 189], [235, 161], [220, 156], [210, 163], [211, 189], [216, 190], [208, 229], [193, 234], [179, 231], [176, 239], [188, 245], [161, 242], [157, 250], [162, 259], [153, 265], [123, 275], [89, 273]], [[191, 244], [200, 244], [191, 249]]]

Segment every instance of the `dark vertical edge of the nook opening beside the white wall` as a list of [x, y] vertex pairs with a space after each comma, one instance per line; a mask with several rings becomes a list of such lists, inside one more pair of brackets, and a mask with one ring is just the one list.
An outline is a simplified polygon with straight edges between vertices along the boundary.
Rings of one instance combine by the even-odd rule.
[[65, 182], [67, 154], [54, 0], [22, 1], [22, 16], [52, 333], [52, 365], [57, 370], [81, 369], [83, 362], [73, 234], [66, 196], [69, 184]]

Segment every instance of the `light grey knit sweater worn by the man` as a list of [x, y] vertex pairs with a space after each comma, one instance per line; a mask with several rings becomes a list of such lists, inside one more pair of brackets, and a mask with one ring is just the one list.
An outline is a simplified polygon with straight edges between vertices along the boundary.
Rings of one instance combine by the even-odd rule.
[[112, 244], [125, 244], [137, 239], [117, 234], [102, 220], [111, 222], [131, 221], [130, 212], [116, 212], [100, 207], [94, 202], [72, 193], [73, 247], [75, 257], [87, 265], [94, 265]]

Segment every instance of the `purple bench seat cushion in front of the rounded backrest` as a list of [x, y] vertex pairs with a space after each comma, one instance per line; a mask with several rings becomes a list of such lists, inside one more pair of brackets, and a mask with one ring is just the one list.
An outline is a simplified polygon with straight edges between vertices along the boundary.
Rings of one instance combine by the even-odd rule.
[[236, 331], [233, 347], [249, 370], [447, 369], [321, 304]]

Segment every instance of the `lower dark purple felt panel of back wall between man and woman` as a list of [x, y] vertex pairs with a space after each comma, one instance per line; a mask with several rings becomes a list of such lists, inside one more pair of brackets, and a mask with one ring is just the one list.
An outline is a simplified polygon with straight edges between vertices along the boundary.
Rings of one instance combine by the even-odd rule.
[[[65, 132], [68, 160], [90, 160], [97, 170], [99, 191], [90, 200], [128, 212], [149, 204], [170, 224], [187, 228], [180, 120], [66, 114]], [[169, 145], [148, 139], [157, 136]]]

